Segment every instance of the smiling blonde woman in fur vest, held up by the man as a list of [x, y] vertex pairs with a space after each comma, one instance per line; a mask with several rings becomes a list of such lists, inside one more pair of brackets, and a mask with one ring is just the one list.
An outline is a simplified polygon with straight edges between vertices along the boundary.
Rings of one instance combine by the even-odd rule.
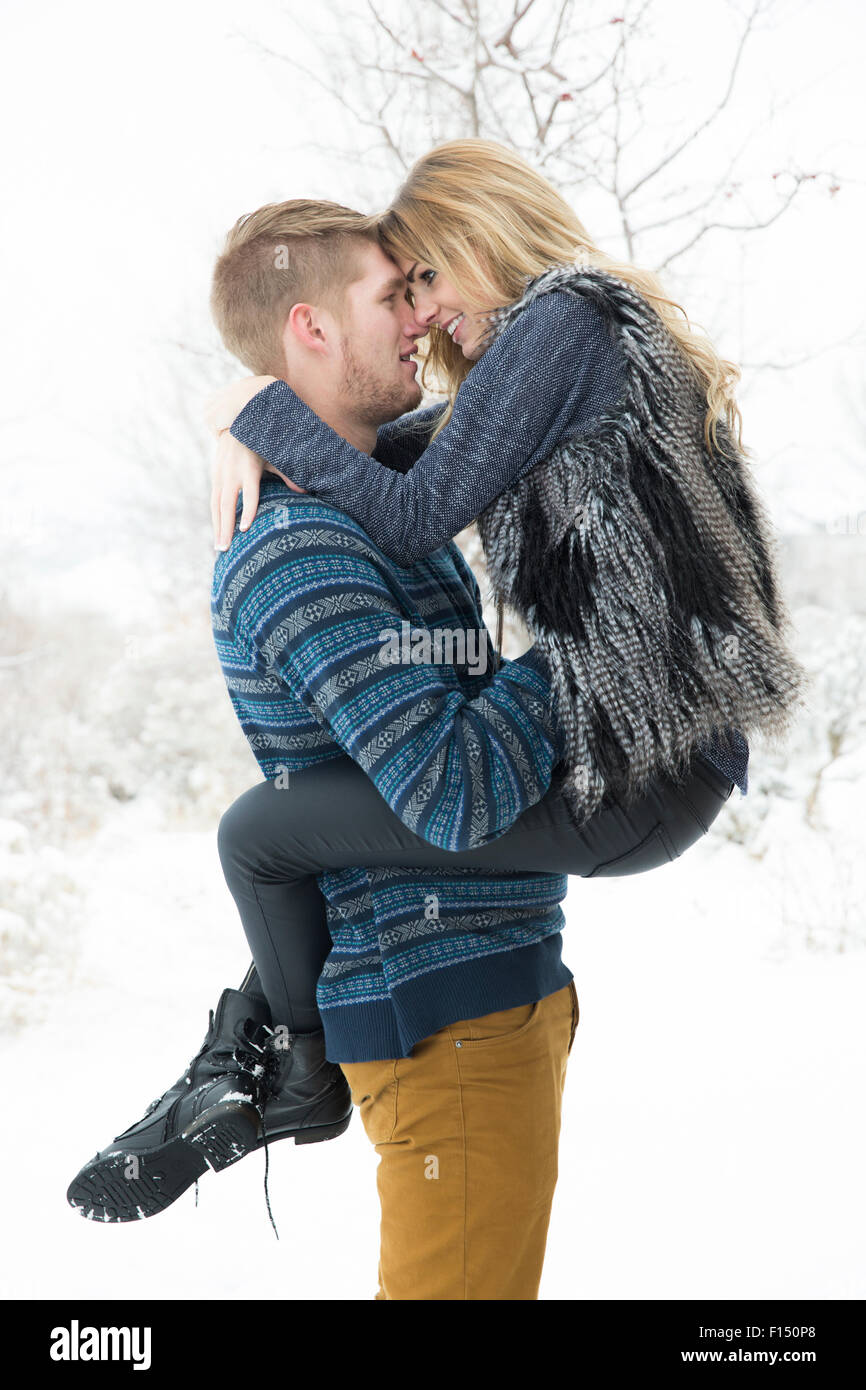
[[734, 784], [745, 792], [744, 735], [783, 733], [801, 682], [741, 448], [740, 373], [659, 281], [605, 256], [545, 179], [484, 140], [421, 158], [379, 236], [430, 329], [423, 381], [445, 386], [445, 406], [379, 431], [379, 463], [285, 382], [228, 388], [210, 411], [221, 546], [239, 486], [246, 528], [261, 460], [285, 471], [295, 431], [311, 448], [289, 481], [392, 559], [411, 563], [477, 517], [499, 616], [509, 603], [550, 667], [566, 756], [544, 802], [461, 855], [414, 837], [348, 759], [293, 774], [288, 796], [264, 783], [239, 798], [222, 863], [272, 1020], [292, 1031], [318, 1026], [329, 948], [311, 876], [656, 867], [706, 833]]

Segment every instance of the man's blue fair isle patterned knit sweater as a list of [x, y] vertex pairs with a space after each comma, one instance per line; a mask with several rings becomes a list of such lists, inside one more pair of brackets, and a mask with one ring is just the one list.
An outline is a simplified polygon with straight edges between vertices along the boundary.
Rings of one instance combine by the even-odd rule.
[[[352, 756], [424, 840], [468, 849], [539, 801], [562, 746], [537, 652], [491, 678], [471, 662], [381, 660], [384, 634], [475, 630], [456, 545], [405, 569], [357, 523], [267, 475], [218, 556], [213, 631], [232, 706], [268, 778]], [[487, 648], [492, 655], [492, 644]], [[317, 1002], [331, 1061], [407, 1056], [457, 1017], [562, 988], [564, 874], [346, 869], [320, 876], [332, 951]], [[435, 910], [431, 906], [435, 905]]]

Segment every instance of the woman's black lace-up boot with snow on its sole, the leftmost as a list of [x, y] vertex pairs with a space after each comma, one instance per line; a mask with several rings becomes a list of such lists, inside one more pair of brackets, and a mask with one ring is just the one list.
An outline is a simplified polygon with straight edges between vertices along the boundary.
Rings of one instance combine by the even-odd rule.
[[253, 1152], [261, 1138], [268, 1019], [259, 999], [224, 990], [183, 1076], [85, 1163], [70, 1183], [70, 1204], [92, 1220], [153, 1216], [209, 1168], [220, 1172]]

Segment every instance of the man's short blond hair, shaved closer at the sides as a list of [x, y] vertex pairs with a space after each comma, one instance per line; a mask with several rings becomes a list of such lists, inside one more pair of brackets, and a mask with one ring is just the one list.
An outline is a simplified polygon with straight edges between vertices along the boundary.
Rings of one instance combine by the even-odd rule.
[[375, 224], [339, 203], [303, 197], [235, 222], [214, 268], [210, 307], [222, 342], [254, 377], [282, 375], [282, 331], [293, 304], [342, 316], [346, 289], [363, 274], [364, 245], [378, 245]]

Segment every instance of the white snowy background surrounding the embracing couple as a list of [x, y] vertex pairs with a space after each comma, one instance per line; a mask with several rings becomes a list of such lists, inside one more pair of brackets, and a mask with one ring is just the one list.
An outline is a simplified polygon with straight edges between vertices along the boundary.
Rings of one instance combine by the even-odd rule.
[[[594, 6], [594, 24], [630, 8]], [[396, 188], [346, 158], [359, 131], [292, 24], [309, 10], [3, 8], [7, 1298], [375, 1291], [377, 1158], [357, 1116], [336, 1143], [274, 1147], [279, 1243], [263, 1155], [207, 1175], [197, 1207], [188, 1193], [133, 1226], [65, 1201], [81, 1163], [183, 1070], [247, 963], [215, 849], [222, 809], [259, 774], [209, 626], [199, 417], [238, 370], [209, 321], [210, 272], [261, 203], [373, 210]], [[359, 10], [327, 8], [336, 38]], [[659, 149], [724, 89], [748, 10], [655, 7]], [[766, 229], [705, 236], [671, 277], [692, 321], [753, 364], [745, 438], [813, 685], [788, 746], [753, 749], [749, 795], [681, 862], [570, 884], [581, 1022], [545, 1300], [866, 1294], [862, 38], [853, 0], [762, 14], [706, 158], [753, 138], [737, 172], [756, 217], [767, 171], [830, 174]], [[573, 202], [621, 252], [594, 197]]]

